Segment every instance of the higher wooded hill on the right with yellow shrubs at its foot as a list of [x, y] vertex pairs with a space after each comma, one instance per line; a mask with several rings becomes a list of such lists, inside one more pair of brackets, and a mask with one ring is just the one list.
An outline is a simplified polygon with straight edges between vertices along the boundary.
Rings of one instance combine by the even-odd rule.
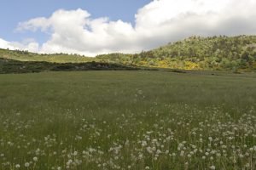
[[99, 59], [185, 70], [256, 69], [256, 36], [189, 37], [141, 54], [108, 54]]

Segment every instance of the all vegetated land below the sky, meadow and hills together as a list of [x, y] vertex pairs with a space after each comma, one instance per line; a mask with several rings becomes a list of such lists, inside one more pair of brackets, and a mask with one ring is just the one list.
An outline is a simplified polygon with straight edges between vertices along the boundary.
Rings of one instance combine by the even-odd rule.
[[255, 44], [189, 37], [96, 58], [0, 49], [0, 169], [256, 169]]

